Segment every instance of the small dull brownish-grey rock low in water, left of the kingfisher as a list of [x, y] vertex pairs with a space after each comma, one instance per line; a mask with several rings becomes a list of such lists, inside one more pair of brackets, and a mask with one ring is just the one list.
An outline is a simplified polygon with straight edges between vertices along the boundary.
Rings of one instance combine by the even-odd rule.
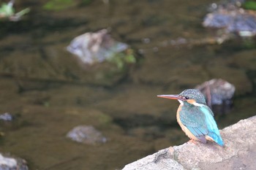
[[102, 133], [97, 131], [91, 125], [79, 125], [69, 131], [67, 137], [73, 141], [84, 144], [97, 144], [107, 142], [105, 136], [102, 136]]

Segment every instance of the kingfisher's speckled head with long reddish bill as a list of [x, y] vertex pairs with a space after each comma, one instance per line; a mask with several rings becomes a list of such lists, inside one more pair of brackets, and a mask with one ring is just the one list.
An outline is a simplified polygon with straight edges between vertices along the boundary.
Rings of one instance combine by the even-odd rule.
[[182, 91], [178, 95], [158, 95], [157, 97], [176, 99], [181, 104], [187, 102], [195, 106], [200, 106], [202, 104], [206, 105], [206, 98], [203, 96], [203, 93], [201, 93], [200, 90], [197, 89], [187, 89]]

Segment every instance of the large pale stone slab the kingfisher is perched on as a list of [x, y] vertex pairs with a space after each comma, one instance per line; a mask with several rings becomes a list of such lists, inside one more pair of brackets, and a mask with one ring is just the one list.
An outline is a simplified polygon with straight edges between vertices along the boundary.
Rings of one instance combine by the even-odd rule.
[[240, 120], [221, 131], [225, 147], [187, 142], [160, 150], [133, 163], [123, 170], [158, 169], [256, 169], [256, 116]]

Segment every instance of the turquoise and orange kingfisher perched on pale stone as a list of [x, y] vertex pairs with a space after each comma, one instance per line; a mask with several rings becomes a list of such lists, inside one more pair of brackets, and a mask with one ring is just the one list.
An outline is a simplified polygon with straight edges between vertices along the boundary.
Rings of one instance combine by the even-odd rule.
[[206, 98], [200, 90], [187, 89], [178, 95], [158, 95], [157, 97], [176, 99], [180, 102], [177, 121], [192, 142], [199, 141], [206, 144], [207, 140], [210, 140], [224, 146], [214, 120], [214, 113], [206, 105]]

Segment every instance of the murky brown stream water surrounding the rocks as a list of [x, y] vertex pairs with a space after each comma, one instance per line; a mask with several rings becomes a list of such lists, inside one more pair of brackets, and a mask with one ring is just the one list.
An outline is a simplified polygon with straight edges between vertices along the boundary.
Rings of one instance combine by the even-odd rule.
[[[163, 45], [214, 36], [201, 26], [211, 2], [93, 1], [59, 12], [44, 11], [42, 1], [19, 2], [31, 7], [28, 18], [0, 23], [0, 111], [15, 115], [1, 122], [0, 151], [26, 159], [30, 169], [121, 169], [187, 142], [176, 123], [178, 102], [156, 96], [212, 78], [236, 86], [233, 108], [216, 117], [219, 128], [255, 115], [253, 43]], [[95, 74], [97, 66], [82, 68], [65, 50], [75, 36], [101, 28], [143, 49], [143, 59], [124, 77]], [[108, 142], [70, 141], [66, 134], [76, 125], [94, 125]]]

